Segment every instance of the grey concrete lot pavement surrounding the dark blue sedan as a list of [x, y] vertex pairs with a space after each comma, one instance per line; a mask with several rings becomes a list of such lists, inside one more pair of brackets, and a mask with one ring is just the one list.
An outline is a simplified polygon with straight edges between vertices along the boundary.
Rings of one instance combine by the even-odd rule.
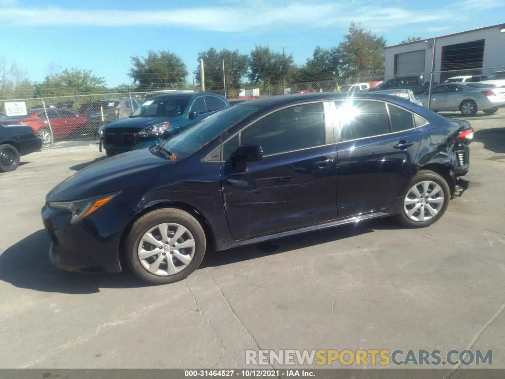
[[469, 346], [505, 368], [505, 112], [469, 120], [469, 188], [436, 224], [381, 219], [211, 253], [158, 287], [55, 269], [44, 196], [104, 154], [88, 143], [24, 157], [0, 174], [0, 368], [238, 368], [245, 349]]

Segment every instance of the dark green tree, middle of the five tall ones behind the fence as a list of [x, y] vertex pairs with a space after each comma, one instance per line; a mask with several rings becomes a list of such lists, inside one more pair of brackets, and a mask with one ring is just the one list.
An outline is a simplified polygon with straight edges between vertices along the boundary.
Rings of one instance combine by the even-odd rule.
[[251, 84], [289, 83], [297, 74], [292, 55], [272, 51], [269, 46], [256, 46], [250, 54], [249, 81]]

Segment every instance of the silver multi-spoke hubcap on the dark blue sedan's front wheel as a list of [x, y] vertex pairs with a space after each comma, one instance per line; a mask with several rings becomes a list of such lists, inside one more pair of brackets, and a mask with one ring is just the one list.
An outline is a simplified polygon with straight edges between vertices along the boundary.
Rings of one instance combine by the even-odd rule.
[[138, 259], [155, 275], [173, 275], [183, 270], [193, 259], [193, 235], [184, 226], [159, 224], [147, 230], [138, 244]]

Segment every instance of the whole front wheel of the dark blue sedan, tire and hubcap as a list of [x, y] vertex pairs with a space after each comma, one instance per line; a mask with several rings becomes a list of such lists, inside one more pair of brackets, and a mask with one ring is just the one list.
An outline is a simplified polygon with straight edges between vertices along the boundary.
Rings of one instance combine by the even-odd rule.
[[158, 209], [133, 224], [125, 243], [128, 266], [140, 279], [153, 284], [185, 279], [204, 259], [204, 229], [189, 213]]

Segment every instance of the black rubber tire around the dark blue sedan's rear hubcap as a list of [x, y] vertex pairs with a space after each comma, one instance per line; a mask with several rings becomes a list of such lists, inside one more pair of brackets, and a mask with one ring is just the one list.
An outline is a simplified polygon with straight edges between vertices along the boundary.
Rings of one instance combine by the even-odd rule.
[[[442, 215], [445, 213], [445, 210], [447, 209], [447, 206], [449, 205], [449, 200], [450, 200], [450, 188], [449, 185], [447, 184], [447, 181], [437, 174], [436, 172], [430, 171], [430, 170], [421, 170], [419, 171], [409, 182], [409, 185], [407, 186], [407, 191], [403, 194], [403, 198], [405, 198], [410, 189], [414, 187], [416, 183], [420, 183], [422, 181], [432, 181], [436, 184], [438, 184], [443, 192], [443, 204], [440, 206], [440, 208], [437, 210], [437, 214], [433, 216], [432, 218], [426, 220], [426, 221], [415, 221], [411, 219], [405, 211], [405, 206], [402, 205], [401, 207], [401, 213], [395, 215], [396, 220], [401, 223], [404, 226], [410, 227], [410, 228], [422, 228], [429, 226], [442, 217]], [[424, 203], [422, 205], [422, 210], [424, 211]]]

